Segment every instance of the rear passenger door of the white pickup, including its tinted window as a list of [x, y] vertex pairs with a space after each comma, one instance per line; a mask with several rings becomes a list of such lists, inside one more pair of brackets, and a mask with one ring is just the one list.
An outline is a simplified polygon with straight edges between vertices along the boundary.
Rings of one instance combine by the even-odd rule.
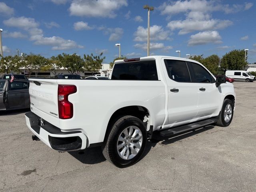
[[186, 61], [162, 58], [168, 86], [168, 124], [192, 120], [198, 108], [198, 84], [192, 83]]

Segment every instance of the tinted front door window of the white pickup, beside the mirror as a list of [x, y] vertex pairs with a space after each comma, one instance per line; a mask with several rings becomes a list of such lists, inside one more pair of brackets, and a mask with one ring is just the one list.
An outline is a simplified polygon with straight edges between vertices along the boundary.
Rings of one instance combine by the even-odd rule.
[[212, 83], [212, 76], [201, 65], [191, 63], [192, 68], [192, 82], [196, 83]]

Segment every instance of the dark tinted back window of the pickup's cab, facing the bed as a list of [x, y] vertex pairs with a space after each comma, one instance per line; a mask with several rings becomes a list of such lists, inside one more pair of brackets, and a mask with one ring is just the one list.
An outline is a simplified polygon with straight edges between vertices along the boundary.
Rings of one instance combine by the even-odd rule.
[[139, 61], [115, 64], [111, 79], [158, 80], [156, 61]]

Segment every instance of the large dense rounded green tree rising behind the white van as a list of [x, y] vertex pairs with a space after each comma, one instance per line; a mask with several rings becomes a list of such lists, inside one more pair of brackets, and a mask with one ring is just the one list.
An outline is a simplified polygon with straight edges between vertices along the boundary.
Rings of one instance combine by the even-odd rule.
[[244, 50], [232, 50], [226, 53], [221, 61], [220, 67], [226, 70], [244, 70], [247, 62], [244, 62]]

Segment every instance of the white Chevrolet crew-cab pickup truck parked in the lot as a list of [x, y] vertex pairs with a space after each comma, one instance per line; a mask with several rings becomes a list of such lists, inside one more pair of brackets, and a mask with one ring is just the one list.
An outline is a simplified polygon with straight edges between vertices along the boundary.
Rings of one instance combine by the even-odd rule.
[[57, 151], [102, 146], [120, 168], [138, 162], [154, 135], [228, 126], [236, 99], [224, 76], [216, 79], [199, 62], [169, 56], [117, 60], [110, 80], [29, 81], [25, 117], [32, 138]]

